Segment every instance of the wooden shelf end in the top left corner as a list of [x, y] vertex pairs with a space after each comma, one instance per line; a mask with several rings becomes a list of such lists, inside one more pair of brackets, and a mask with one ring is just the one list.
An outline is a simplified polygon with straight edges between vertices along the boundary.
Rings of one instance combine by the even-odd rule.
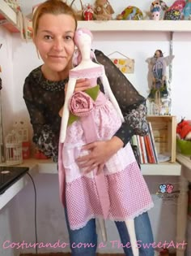
[[7, 20], [3, 26], [8, 29], [11, 33], [19, 32], [19, 27], [17, 24], [17, 15], [11, 7], [7, 5], [4, 0], [0, 0], [0, 22], [1, 20]]

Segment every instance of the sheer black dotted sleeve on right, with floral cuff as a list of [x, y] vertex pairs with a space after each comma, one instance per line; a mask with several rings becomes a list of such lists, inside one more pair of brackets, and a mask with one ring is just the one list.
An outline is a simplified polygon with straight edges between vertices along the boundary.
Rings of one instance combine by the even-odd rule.
[[138, 93], [124, 74], [107, 56], [100, 50], [95, 50], [95, 54], [97, 61], [105, 67], [112, 93], [117, 98], [117, 102], [124, 115], [125, 122], [115, 135], [120, 137], [124, 145], [126, 145], [134, 134], [144, 136], [148, 132], [146, 99]]

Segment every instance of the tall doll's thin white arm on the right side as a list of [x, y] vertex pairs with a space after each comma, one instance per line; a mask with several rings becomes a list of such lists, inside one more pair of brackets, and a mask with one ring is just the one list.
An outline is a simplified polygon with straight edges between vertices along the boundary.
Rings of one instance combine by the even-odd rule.
[[109, 85], [108, 77], [104, 74], [103, 76], [100, 76], [100, 80], [101, 80], [102, 84], [104, 85], [104, 90], [106, 91], [105, 93], [108, 94], [108, 98], [112, 102], [112, 105], [115, 107], [118, 114], [120, 115], [121, 121], [124, 122], [124, 117], [123, 117], [121, 109], [118, 105], [117, 99], [115, 98], [114, 94], [112, 93], [112, 89]]

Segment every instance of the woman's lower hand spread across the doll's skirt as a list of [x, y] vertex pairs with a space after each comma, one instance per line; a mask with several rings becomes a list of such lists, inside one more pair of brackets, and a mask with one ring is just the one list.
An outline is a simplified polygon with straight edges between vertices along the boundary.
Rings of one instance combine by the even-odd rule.
[[84, 155], [77, 159], [77, 163], [80, 168], [84, 168], [84, 173], [92, 171], [94, 168], [98, 168], [98, 172], [104, 167], [104, 164], [117, 153], [123, 146], [123, 141], [118, 137], [112, 137], [109, 141], [96, 141], [90, 144], [84, 145], [83, 150], [90, 150], [90, 154]]

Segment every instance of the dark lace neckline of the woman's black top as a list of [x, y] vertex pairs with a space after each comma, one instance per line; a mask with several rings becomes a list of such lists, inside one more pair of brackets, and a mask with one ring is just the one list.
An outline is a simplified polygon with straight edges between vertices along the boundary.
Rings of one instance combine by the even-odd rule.
[[65, 88], [66, 83], [68, 82], [68, 78], [60, 81], [51, 81], [45, 79], [43, 73], [41, 71], [41, 66], [37, 67], [32, 71], [32, 76], [35, 80], [37, 80], [38, 85], [47, 90], [47, 91], [62, 91]]

